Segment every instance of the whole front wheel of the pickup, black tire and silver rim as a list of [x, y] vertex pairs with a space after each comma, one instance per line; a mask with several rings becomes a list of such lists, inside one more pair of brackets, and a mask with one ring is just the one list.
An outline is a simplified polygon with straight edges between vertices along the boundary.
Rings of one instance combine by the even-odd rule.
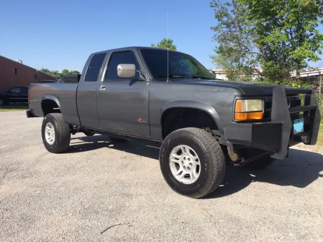
[[226, 161], [221, 146], [214, 137], [197, 128], [172, 132], [161, 144], [161, 173], [177, 193], [201, 198], [222, 183]]

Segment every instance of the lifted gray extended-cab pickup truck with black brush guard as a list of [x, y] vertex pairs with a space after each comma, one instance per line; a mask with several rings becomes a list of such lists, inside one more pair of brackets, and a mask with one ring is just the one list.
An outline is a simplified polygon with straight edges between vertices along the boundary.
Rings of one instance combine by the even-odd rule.
[[314, 145], [320, 124], [312, 89], [220, 81], [188, 54], [149, 47], [92, 53], [78, 83], [31, 84], [28, 102], [49, 152], [78, 132], [137, 139], [160, 148], [167, 184], [192, 198], [221, 185], [227, 162], [263, 169]]

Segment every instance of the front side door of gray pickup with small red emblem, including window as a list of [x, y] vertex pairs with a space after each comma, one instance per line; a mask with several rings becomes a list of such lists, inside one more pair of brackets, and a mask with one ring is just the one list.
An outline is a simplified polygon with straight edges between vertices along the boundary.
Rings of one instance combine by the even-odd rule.
[[113, 52], [106, 74], [97, 89], [97, 115], [100, 128], [121, 133], [149, 136], [149, 81], [139, 81], [139, 75], [122, 78], [117, 75], [119, 64], [134, 64], [142, 70], [134, 51]]

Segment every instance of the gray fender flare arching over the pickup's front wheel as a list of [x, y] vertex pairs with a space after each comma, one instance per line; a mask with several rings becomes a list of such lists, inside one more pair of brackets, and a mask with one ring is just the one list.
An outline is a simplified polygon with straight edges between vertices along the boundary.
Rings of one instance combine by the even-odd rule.
[[223, 127], [222, 127], [222, 122], [221, 119], [217, 113], [217, 111], [211, 107], [208, 104], [202, 103], [202, 102], [197, 102], [197, 101], [173, 101], [173, 102], [168, 102], [166, 103], [160, 110], [160, 126], [161, 126], [161, 120], [163, 118], [163, 115], [165, 114], [165, 112], [171, 108], [175, 108], [175, 107], [184, 107], [184, 108], [195, 108], [195, 109], [199, 109], [202, 111], [205, 111], [206, 113], [208, 113], [214, 120], [214, 122], [216, 123], [219, 132], [221, 135], [224, 134], [223, 132]]

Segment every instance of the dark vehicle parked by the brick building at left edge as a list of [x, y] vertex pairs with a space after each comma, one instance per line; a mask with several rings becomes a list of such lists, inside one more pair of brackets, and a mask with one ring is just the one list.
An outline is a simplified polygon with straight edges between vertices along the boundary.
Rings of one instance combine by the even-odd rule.
[[0, 105], [9, 103], [28, 103], [28, 87], [13, 87], [7, 92], [0, 92]]

